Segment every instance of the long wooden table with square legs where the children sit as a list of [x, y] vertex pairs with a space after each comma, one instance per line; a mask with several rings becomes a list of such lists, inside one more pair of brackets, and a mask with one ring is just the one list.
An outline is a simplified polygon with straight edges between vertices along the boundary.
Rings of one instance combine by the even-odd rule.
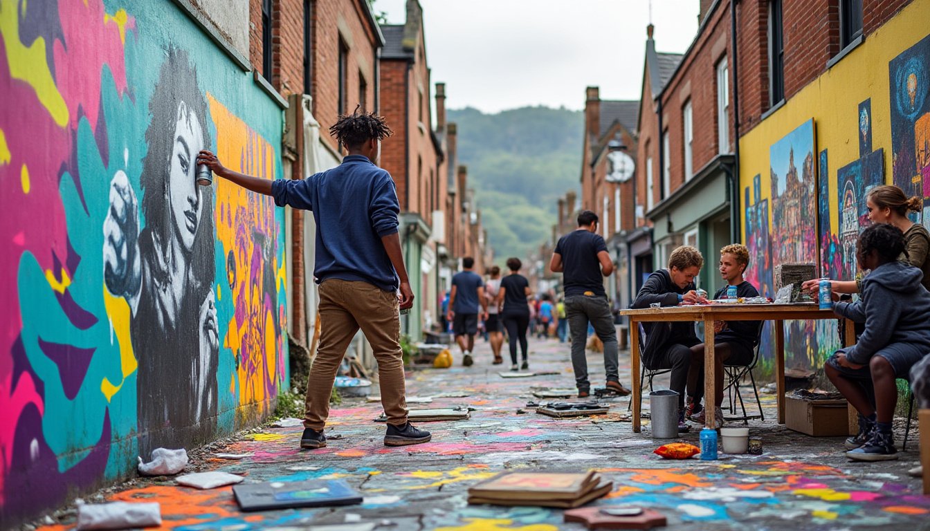
[[[640, 414], [642, 409], [642, 392], [640, 388], [640, 322], [704, 322], [704, 398], [705, 403], [713, 402], [716, 385], [713, 374], [714, 364], [714, 321], [774, 321], [775, 322], [775, 382], [777, 386], [778, 423], [785, 423], [785, 328], [784, 321], [807, 319], [837, 319], [832, 310], [820, 310], [817, 303], [801, 304], [700, 304], [694, 306], [667, 306], [664, 308], [644, 308], [640, 310], [623, 310], [620, 315], [630, 317], [630, 358], [633, 401], [633, 431], [640, 431]], [[851, 323], [846, 325], [845, 344], [855, 342], [855, 330]], [[714, 408], [705, 409], [705, 425], [716, 428]]]

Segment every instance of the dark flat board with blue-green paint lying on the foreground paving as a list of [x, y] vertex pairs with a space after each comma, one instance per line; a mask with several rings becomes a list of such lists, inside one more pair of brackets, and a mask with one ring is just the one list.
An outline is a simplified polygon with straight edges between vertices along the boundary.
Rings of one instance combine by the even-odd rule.
[[233, 496], [242, 511], [330, 507], [362, 503], [362, 495], [342, 480], [234, 485]]

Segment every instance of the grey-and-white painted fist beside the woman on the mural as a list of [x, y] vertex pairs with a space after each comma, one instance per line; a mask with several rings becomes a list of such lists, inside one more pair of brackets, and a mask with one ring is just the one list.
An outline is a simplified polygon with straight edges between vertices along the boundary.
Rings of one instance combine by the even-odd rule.
[[110, 209], [103, 221], [103, 279], [113, 295], [135, 310], [142, 285], [139, 253], [139, 206], [126, 174], [110, 182]]

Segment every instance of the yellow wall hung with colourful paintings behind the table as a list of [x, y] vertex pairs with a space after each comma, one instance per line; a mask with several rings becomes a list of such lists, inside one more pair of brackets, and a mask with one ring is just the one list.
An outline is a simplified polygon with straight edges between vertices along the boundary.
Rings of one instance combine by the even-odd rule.
[[[750, 279], [765, 285], [789, 261], [852, 279], [856, 239], [869, 223], [866, 193], [894, 182], [930, 201], [928, 19], [930, 0], [915, 0], [740, 139], [743, 241], [759, 270]], [[768, 242], [767, 227], [779, 228]], [[786, 323], [785, 332], [789, 368], [819, 369], [839, 347], [833, 321]]]

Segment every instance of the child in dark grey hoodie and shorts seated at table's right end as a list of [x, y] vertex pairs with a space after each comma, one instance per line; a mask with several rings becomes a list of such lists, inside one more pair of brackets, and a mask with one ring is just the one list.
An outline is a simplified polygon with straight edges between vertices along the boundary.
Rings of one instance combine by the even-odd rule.
[[895, 378], [930, 352], [930, 293], [923, 272], [897, 261], [904, 233], [893, 225], [871, 225], [859, 235], [857, 261], [871, 272], [856, 302], [838, 302], [834, 312], [865, 330], [856, 345], [835, 352], [827, 377], [859, 413], [859, 432], [846, 439], [846, 456], [861, 461], [897, 459], [891, 430], [897, 405]]

